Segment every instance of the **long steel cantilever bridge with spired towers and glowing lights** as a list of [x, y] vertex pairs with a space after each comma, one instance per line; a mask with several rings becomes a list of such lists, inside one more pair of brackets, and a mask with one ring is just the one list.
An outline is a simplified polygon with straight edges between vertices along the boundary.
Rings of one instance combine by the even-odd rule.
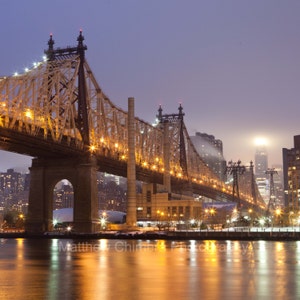
[[160, 107], [156, 125], [134, 115], [134, 98], [128, 112], [118, 108], [97, 83], [83, 41], [80, 32], [75, 47], [54, 48], [51, 35], [44, 61], [0, 78], [0, 149], [34, 157], [27, 231], [51, 230], [53, 188], [66, 178], [74, 188], [74, 223], [94, 232], [98, 171], [127, 177], [128, 225], [136, 223], [136, 180], [265, 210], [251, 176], [240, 176], [235, 194], [204, 163], [181, 105], [173, 114]]

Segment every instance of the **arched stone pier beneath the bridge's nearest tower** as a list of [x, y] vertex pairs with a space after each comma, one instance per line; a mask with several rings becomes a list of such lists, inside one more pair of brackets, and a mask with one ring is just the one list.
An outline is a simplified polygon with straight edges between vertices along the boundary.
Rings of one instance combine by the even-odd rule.
[[74, 192], [73, 228], [79, 233], [94, 233], [99, 226], [97, 163], [84, 159], [33, 159], [26, 231], [53, 230], [53, 190], [62, 179], [71, 182]]

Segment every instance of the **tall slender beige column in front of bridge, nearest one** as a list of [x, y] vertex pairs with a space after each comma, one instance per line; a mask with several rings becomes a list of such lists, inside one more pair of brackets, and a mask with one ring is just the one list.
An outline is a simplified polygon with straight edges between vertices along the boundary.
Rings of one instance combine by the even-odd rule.
[[136, 226], [136, 168], [134, 98], [128, 98], [128, 163], [127, 163], [127, 214], [126, 225]]

